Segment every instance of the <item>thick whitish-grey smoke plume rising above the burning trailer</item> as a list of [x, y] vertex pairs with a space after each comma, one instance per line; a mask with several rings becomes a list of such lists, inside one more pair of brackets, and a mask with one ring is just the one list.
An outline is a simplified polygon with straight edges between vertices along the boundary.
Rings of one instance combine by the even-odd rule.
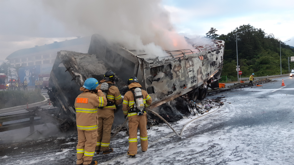
[[43, 5], [77, 35], [98, 33], [128, 49], [153, 55], [191, 48], [173, 29], [160, 0], [51, 0]]

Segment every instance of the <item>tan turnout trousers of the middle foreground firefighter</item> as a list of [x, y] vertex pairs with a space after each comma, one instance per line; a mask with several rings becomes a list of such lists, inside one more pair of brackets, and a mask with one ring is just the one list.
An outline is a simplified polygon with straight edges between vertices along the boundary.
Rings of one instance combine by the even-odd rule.
[[98, 109], [98, 136], [96, 150], [108, 151], [110, 145], [111, 126], [114, 118], [113, 109]]

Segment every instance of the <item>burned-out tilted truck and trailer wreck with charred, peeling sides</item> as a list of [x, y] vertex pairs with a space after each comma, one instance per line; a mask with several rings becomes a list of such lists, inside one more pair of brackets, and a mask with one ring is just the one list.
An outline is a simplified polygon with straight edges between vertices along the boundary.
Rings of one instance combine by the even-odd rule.
[[[59, 51], [49, 79], [49, 97], [58, 107], [58, 118], [75, 123], [75, 98], [90, 77], [103, 79], [107, 70], [118, 77], [115, 86], [122, 96], [128, 91], [127, 79], [136, 76], [142, 89], [152, 97], [150, 109], [187, 94], [191, 100], [203, 100], [208, 86], [218, 87], [223, 67], [224, 41], [188, 40], [193, 49], [165, 51], [165, 56], [145, 54], [92, 35], [88, 54]], [[123, 123], [117, 107], [114, 124]]]

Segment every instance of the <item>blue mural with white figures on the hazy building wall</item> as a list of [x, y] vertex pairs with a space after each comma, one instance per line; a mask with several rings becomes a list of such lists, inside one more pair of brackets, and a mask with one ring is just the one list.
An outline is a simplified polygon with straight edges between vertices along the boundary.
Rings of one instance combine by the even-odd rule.
[[19, 79], [21, 83], [28, 81], [29, 86], [34, 86], [36, 79], [38, 79], [38, 74], [40, 74], [40, 65], [32, 65], [32, 66], [26, 66], [19, 68]]

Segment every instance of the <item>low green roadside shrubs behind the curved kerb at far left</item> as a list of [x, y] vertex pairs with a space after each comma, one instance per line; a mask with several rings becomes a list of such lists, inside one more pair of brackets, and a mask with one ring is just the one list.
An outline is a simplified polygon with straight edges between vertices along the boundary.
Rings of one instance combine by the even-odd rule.
[[0, 91], [0, 109], [32, 104], [43, 101], [41, 90], [33, 91]]

